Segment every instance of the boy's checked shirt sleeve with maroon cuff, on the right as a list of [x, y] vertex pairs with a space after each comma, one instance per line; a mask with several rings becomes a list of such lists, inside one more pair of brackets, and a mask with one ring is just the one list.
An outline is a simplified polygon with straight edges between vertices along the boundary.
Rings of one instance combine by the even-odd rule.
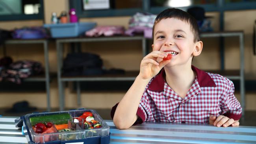
[[225, 78], [227, 82], [226, 92], [220, 98], [221, 114], [234, 120], [239, 120], [242, 116], [242, 108], [236, 96], [234, 95], [234, 84], [229, 79]]

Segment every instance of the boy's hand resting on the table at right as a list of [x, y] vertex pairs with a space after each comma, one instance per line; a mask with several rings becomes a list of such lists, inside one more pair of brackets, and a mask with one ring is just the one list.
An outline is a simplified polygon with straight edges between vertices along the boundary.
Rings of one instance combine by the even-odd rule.
[[219, 115], [218, 117], [210, 115], [209, 124], [217, 127], [239, 126], [239, 120], [234, 120], [223, 115]]

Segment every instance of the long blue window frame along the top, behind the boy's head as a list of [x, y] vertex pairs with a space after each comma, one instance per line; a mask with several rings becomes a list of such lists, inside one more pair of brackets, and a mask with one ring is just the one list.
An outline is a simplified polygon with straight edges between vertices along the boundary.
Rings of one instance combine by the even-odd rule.
[[[150, 0], [142, 1], [142, 8], [129, 8], [129, 9], [97, 9], [83, 11], [82, 0], [69, 0], [70, 8], [76, 9], [76, 14], [79, 18], [91, 18], [91, 17], [115, 17], [115, 16], [132, 16], [136, 12], [149, 12], [158, 14], [164, 9], [169, 7], [151, 7]], [[211, 11], [234, 11], [234, 10], [247, 10], [256, 9], [256, 2], [231, 2], [226, 3], [224, 0], [216, 0], [215, 4], [199, 4], [192, 6], [200, 6], [205, 9], [206, 12]], [[191, 7], [191, 6], [189, 6]], [[178, 7], [179, 9], [186, 10], [189, 7]]]

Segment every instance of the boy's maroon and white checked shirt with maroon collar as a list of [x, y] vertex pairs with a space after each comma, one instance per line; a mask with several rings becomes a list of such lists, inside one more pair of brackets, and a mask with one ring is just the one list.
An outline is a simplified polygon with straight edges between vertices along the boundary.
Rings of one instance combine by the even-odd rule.
[[[209, 116], [224, 115], [239, 120], [242, 108], [234, 96], [234, 84], [219, 75], [204, 72], [195, 66], [192, 69], [197, 76], [191, 88], [182, 99], [165, 82], [165, 71], [148, 83], [139, 104], [135, 123], [176, 122], [209, 124]], [[112, 108], [115, 113], [118, 103]]]

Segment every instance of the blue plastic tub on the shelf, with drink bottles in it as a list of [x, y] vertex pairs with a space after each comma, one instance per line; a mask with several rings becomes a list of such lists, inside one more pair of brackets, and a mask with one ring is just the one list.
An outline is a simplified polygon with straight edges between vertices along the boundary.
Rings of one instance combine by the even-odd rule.
[[96, 26], [95, 22], [76, 22], [67, 24], [45, 24], [45, 28], [50, 28], [53, 38], [78, 37], [85, 35], [85, 31]]

